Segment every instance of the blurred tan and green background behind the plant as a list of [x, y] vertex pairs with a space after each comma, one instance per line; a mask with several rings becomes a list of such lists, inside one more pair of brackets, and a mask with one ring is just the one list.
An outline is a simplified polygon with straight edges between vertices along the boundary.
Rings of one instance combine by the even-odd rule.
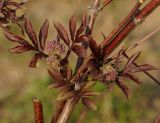
[[[135, 2], [136, 0], [114, 0], [99, 13], [93, 32], [94, 38], [102, 41], [101, 32], [108, 35], [116, 28]], [[58, 21], [68, 28], [68, 21], [75, 14], [80, 23], [81, 15], [88, 12], [87, 8], [91, 3], [92, 0], [29, 0], [26, 13], [37, 32], [43, 21], [49, 19], [49, 40], [52, 40], [56, 35], [53, 21]], [[159, 12], [160, 7], [136, 28], [120, 47], [139, 41], [160, 26]], [[33, 54], [10, 54], [8, 49], [13, 47], [13, 43], [4, 38], [2, 31], [0, 35], [0, 123], [33, 123], [33, 96], [42, 100], [45, 122], [49, 123], [58, 91], [48, 89], [51, 79], [46, 65], [41, 62], [37, 69], [28, 68]], [[160, 67], [160, 32], [138, 47], [138, 50], [143, 50], [138, 63]], [[152, 74], [160, 80], [159, 72]], [[160, 86], [143, 74], [139, 76], [143, 81], [142, 85], [127, 82], [131, 89], [129, 102], [117, 87], [108, 91], [102, 85], [96, 85], [95, 89], [105, 91], [105, 94], [95, 99], [98, 111], [87, 111], [83, 123], [153, 123], [156, 117], [160, 116]], [[75, 123], [83, 110], [82, 104], [78, 104], [70, 123]]]

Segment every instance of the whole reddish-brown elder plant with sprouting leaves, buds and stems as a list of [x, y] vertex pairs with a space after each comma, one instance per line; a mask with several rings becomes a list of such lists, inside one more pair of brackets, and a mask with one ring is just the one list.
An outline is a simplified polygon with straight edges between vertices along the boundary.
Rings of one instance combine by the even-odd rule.
[[[44, 59], [49, 64], [48, 73], [54, 80], [51, 87], [60, 90], [56, 111], [51, 123], [66, 123], [75, 105], [80, 100], [87, 108], [96, 110], [96, 105], [91, 97], [100, 94], [91, 90], [94, 83], [101, 82], [108, 88], [116, 84], [127, 99], [129, 99], [129, 88], [125, 79], [141, 84], [141, 80], [136, 76], [138, 72], [144, 72], [157, 84], [160, 84], [148, 73], [151, 70], [159, 70], [158, 68], [149, 64], [136, 64], [141, 51], [131, 56], [128, 55], [128, 52], [137, 47], [139, 43], [127, 49], [120, 49], [117, 55], [110, 55], [128, 34], [160, 5], [160, 0], [150, 0], [148, 4], [141, 8], [144, 1], [137, 0], [127, 17], [108, 37], [102, 33], [104, 40], [100, 45], [92, 36], [94, 22], [98, 13], [112, 0], [105, 0], [102, 4], [100, 4], [100, 0], [95, 0], [90, 7], [88, 16], [86, 14], [82, 16], [80, 26], [77, 26], [76, 17], [72, 16], [69, 21], [69, 31], [60, 23], [54, 23], [57, 37], [50, 42], [47, 39], [48, 20], [45, 20], [38, 33], [39, 36], [37, 36], [37, 31], [33, 29], [27, 16], [24, 13], [17, 12], [23, 9], [22, 6], [26, 1], [2, 0], [0, 2], [0, 25], [4, 30], [4, 35], [8, 40], [17, 44], [16, 47], [10, 49], [10, 52], [33, 51], [35, 55], [29, 63], [29, 67], [32, 68], [36, 68], [38, 61]], [[24, 22], [24, 25], [21, 22]], [[21, 36], [10, 31], [12, 23], [20, 27], [22, 30]], [[24, 37], [24, 34], [27, 34], [30, 41]], [[75, 70], [70, 67], [71, 53], [78, 56]], [[33, 98], [33, 104], [35, 123], [43, 123], [43, 109], [40, 100]]]

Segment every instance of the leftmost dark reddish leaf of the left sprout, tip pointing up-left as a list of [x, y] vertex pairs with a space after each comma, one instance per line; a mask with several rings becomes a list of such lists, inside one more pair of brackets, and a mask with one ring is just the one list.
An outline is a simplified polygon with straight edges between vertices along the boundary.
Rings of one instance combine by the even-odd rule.
[[8, 30], [4, 31], [4, 35], [8, 40], [12, 42], [21, 43], [22, 41], [26, 41], [24, 38], [17, 36], [13, 34], [12, 32], [9, 32]]

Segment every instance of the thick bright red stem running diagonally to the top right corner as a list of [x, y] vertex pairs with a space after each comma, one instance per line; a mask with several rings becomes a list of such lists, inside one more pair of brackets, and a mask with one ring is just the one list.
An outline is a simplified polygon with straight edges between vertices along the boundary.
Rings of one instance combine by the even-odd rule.
[[[138, 14], [133, 18], [120, 33], [118, 33], [108, 46], [105, 48], [105, 55], [110, 55], [114, 49], [137, 27], [139, 22], [142, 22], [151, 12], [160, 5], [160, 0], [151, 0]], [[106, 39], [108, 40], [108, 39]], [[104, 40], [104, 41], [106, 41]], [[104, 42], [103, 41], [103, 42]]]

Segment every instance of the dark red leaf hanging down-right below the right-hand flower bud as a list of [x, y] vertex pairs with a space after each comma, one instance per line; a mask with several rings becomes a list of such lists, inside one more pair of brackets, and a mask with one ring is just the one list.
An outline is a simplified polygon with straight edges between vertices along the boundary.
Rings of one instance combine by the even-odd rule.
[[127, 99], [129, 100], [129, 88], [127, 85], [124, 84], [124, 82], [117, 80], [116, 84], [119, 86], [119, 88], [123, 91], [123, 93], [126, 95]]

